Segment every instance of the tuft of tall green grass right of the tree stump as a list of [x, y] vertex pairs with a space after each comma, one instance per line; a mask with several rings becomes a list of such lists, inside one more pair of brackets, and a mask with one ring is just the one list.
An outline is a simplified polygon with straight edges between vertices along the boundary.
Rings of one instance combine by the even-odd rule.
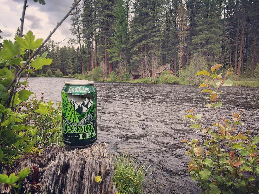
[[132, 155], [123, 152], [123, 156], [115, 156], [114, 184], [120, 194], [143, 193], [141, 187], [146, 175], [146, 165], [140, 164]]

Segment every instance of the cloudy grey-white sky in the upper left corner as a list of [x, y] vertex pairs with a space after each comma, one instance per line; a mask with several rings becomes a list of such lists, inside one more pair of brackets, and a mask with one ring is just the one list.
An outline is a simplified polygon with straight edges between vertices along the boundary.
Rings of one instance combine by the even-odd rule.
[[[17, 27], [20, 27], [19, 18], [21, 18], [23, 2], [23, 0], [0, 0], [0, 29], [3, 31], [3, 34], [1, 34], [3, 39], [14, 41], [14, 34]], [[67, 14], [73, 0], [45, 0], [45, 2], [45, 5], [41, 5], [39, 2], [27, 0], [28, 7], [25, 12], [23, 34], [31, 30], [36, 38], [47, 38], [57, 22]], [[73, 37], [69, 28], [70, 18], [68, 17], [52, 35], [51, 39], [60, 42], [65, 38], [68, 41], [69, 38]], [[61, 42], [60, 46], [65, 44], [67, 42]]]

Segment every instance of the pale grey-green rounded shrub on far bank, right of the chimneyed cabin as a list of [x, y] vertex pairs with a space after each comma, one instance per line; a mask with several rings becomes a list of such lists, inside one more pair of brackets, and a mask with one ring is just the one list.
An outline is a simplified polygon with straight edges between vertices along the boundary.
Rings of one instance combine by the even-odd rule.
[[195, 72], [207, 69], [207, 64], [204, 62], [204, 57], [199, 54], [194, 54], [190, 64], [183, 71], [183, 74], [188, 83], [198, 85], [202, 83], [204, 76], [195, 76]]

